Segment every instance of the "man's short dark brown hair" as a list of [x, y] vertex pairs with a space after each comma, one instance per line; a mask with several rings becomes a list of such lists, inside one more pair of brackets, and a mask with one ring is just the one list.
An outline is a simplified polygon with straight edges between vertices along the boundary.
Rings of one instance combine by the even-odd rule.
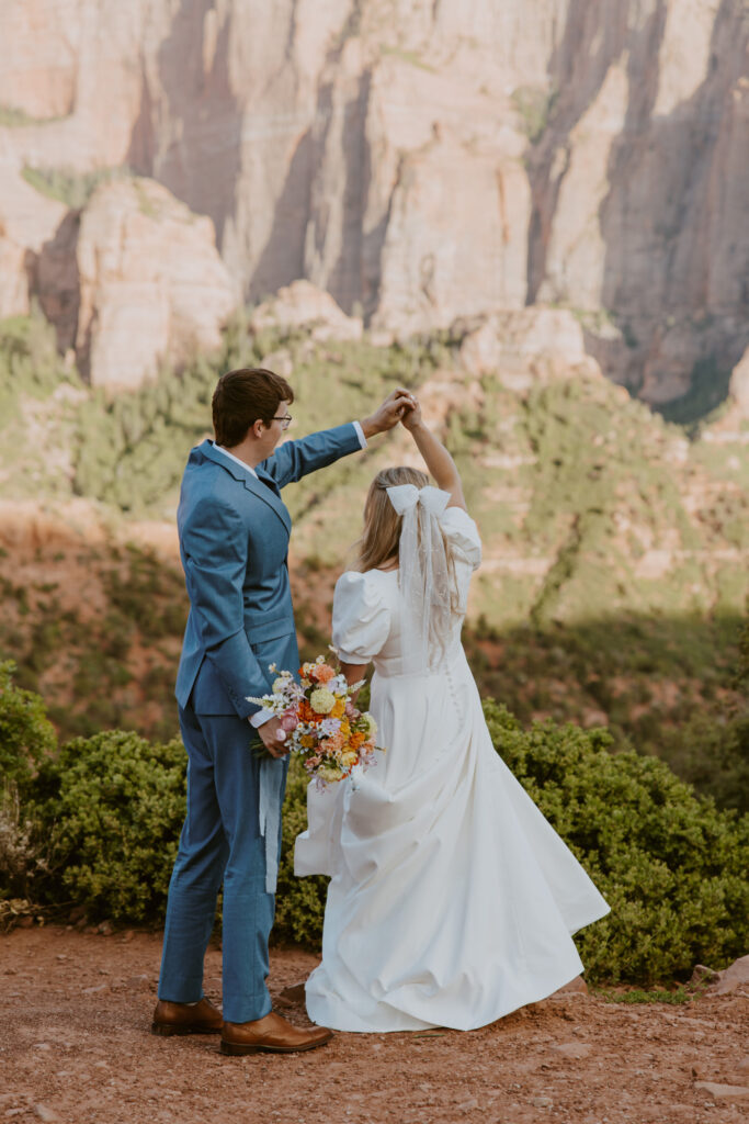
[[293, 402], [294, 391], [286, 380], [262, 366], [241, 366], [227, 371], [213, 391], [213, 430], [216, 444], [232, 448], [247, 436], [258, 419], [271, 425], [278, 402]]

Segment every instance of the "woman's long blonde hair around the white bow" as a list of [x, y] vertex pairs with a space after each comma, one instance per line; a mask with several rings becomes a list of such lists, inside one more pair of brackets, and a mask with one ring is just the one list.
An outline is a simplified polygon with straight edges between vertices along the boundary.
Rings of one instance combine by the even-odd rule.
[[[420, 469], [401, 465], [395, 469], [382, 469], [369, 484], [364, 505], [364, 531], [362, 537], [354, 544], [356, 552], [356, 569], [363, 573], [366, 570], [378, 570], [387, 562], [398, 562], [398, 551], [401, 541], [403, 516], [399, 515], [390, 501], [387, 489], [398, 484], [414, 484], [426, 488], [429, 477]], [[455, 562], [450, 544], [442, 534], [445, 554], [450, 578], [450, 609], [457, 611], [459, 595], [455, 581]]]

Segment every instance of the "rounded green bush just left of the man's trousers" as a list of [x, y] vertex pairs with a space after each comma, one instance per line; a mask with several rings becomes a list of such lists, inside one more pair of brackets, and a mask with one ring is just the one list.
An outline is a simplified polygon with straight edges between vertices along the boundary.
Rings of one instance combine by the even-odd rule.
[[185, 753], [108, 731], [43, 763], [35, 812], [53, 842], [49, 895], [92, 916], [163, 915], [185, 807]]

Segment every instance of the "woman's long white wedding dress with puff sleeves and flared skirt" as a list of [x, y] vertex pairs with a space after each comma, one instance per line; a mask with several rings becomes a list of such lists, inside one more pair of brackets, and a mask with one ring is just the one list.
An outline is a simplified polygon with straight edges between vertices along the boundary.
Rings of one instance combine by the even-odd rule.
[[570, 933], [609, 906], [495, 752], [460, 645], [476, 525], [440, 524], [462, 611], [438, 670], [403, 674], [398, 571], [344, 573], [334, 643], [374, 660], [376, 767], [310, 785], [296, 874], [330, 874], [310, 1018], [341, 1031], [471, 1030], [583, 970]]

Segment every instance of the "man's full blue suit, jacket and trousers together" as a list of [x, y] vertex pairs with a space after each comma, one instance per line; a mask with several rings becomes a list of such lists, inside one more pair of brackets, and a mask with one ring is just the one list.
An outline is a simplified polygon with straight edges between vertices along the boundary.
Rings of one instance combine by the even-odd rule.
[[158, 995], [202, 996], [203, 958], [223, 883], [223, 1017], [271, 1010], [265, 985], [275, 907], [287, 762], [259, 756], [247, 696], [264, 695], [268, 664], [296, 671], [286, 553], [291, 518], [280, 490], [360, 448], [354, 425], [286, 442], [257, 477], [204, 441], [182, 480], [177, 527], [190, 597], [177, 672], [188, 751], [188, 815], [170, 883]]

